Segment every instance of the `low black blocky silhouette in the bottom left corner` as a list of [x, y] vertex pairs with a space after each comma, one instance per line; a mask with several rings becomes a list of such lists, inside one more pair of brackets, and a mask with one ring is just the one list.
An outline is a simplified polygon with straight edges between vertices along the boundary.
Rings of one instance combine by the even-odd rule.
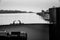
[[9, 34], [5, 32], [0, 35], [0, 40], [27, 40], [27, 33], [11, 32]]

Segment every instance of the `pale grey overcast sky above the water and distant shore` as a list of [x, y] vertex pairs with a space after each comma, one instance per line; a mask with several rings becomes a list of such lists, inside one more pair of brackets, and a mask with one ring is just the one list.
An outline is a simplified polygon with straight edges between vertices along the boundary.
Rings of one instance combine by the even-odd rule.
[[0, 9], [40, 12], [59, 6], [58, 0], [0, 0]]

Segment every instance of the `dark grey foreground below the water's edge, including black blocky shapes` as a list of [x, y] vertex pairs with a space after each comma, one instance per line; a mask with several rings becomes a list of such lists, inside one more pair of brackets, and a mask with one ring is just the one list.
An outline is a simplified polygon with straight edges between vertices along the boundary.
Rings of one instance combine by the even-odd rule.
[[47, 24], [0, 25], [0, 40], [49, 40], [49, 25]]

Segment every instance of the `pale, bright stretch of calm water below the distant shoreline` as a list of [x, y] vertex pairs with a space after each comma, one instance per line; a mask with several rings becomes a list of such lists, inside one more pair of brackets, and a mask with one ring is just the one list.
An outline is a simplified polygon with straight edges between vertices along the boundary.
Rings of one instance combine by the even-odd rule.
[[0, 24], [10, 24], [13, 23], [13, 21], [16, 20], [16, 23], [18, 23], [18, 20], [21, 21], [21, 23], [49, 23], [48, 21], [45, 21], [41, 16], [37, 15], [36, 13], [16, 13], [16, 14], [0, 14]]

